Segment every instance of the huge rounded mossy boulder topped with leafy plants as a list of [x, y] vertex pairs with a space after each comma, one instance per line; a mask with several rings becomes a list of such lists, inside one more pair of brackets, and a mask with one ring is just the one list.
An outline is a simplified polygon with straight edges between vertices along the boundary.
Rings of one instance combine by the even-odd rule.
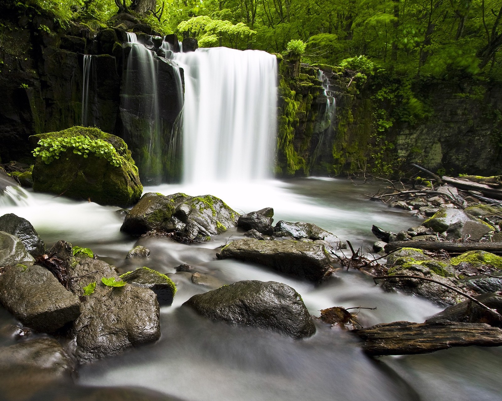
[[30, 140], [38, 145], [34, 191], [122, 207], [140, 199], [138, 168], [122, 139], [98, 128], [75, 126]]

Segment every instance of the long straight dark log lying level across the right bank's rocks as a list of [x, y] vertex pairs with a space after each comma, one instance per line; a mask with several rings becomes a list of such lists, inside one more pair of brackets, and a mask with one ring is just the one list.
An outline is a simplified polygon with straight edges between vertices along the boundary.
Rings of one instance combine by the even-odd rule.
[[386, 253], [398, 248], [417, 248], [425, 250], [446, 250], [449, 253], [464, 253], [469, 250], [484, 250], [502, 253], [502, 242], [452, 242], [452, 241], [394, 241], [385, 245]]

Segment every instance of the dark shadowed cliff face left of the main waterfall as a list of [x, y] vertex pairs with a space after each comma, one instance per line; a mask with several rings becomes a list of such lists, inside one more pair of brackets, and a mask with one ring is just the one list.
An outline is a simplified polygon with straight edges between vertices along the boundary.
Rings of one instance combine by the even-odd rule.
[[[17, 15], [5, 15], [1, 22], [4, 27], [0, 46], [0, 93], [5, 100], [0, 107], [0, 157], [4, 163], [31, 159], [30, 135], [86, 124], [126, 139], [133, 158], [148, 165], [144, 169], [147, 176], [177, 173], [176, 166], [169, 166], [172, 171], [168, 173], [160, 172], [159, 165], [166, 165], [165, 161], [151, 158], [142, 145], [142, 137], [151, 136], [154, 125], [160, 137], [157, 143], [172, 142], [169, 136], [183, 103], [178, 96], [175, 71], [164, 58], [153, 56], [153, 68], [162, 86], [162, 95], [158, 97], [158, 108], [162, 112], [154, 123], [141, 107], [135, 108], [145, 103], [145, 88], [140, 77], [134, 76], [136, 85], [132, 89], [124, 89], [124, 63], [131, 45], [124, 44], [127, 27], [120, 26], [119, 19], [118, 28], [98, 31], [85, 24], [57, 28], [53, 19], [41, 15], [21, 20]], [[138, 27], [137, 31], [142, 27], [151, 31], [141, 24], [132, 24], [133, 29]], [[162, 38], [150, 33], [152, 35], [138, 32], [139, 41], [163, 56], [159, 49]], [[84, 54], [93, 55], [87, 59], [90, 62], [87, 102], [83, 98]], [[127, 102], [124, 93], [127, 93]], [[82, 113], [84, 107], [86, 113]], [[158, 153], [162, 152], [168, 153], [167, 149], [158, 149]]]

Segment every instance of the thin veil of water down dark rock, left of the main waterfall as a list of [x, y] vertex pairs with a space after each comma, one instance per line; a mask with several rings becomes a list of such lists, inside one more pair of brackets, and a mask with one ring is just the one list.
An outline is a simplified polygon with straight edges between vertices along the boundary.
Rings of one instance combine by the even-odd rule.
[[[138, 42], [135, 33], [127, 32], [131, 52], [124, 71], [120, 108], [126, 116], [126, 142], [137, 148], [136, 164], [147, 181], [162, 176], [162, 149], [154, 54]], [[138, 138], [140, 135], [142, 138]]]

